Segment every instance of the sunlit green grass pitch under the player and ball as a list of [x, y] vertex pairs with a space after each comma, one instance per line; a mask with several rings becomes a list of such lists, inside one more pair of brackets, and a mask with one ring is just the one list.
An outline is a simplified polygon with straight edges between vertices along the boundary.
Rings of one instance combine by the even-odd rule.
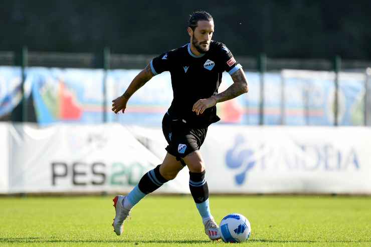
[[[113, 196], [0, 197], [0, 246], [231, 246], [210, 241], [190, 195], [144, 198], [116, 236]], [[216, 196], [219, 223], [244, 214], [236, 246], [371, 246], [371, 197]]]

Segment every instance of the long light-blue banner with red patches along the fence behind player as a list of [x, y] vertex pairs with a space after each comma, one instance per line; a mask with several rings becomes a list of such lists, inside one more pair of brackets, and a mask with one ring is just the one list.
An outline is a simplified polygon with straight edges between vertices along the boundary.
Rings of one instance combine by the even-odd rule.
[[[139, 70], [28, 68], [26, 92], [32, 89], [37, 121], [102, 123], [103, 81], [106, 82], [108, 122], [160, 126], [172, 101], [168, 72], [153, 77], [129, 100], [125, 114], [111, 111], [112, 100], [122, 95]], [[264, 124], [333, 125], [334, 79], [329, 72], [291, 71], [264, 74]], [[295, 73], [299, 73], [297, 76]], [[312, 74], [311, 74], [312, 73]], [[314, 74], [313, 74], [314, 73]], [[327, 73], [327, 74], [326, 74]], [[364, 79], [361, 73], [340, 73], [339, 124], [363, 123]], [[218, 104], [219, 123], [259, 124], [260, 74], [246, 72], [249, 93]], [[219, 92], [233, 84], [223, 74]], [[11, 112], [22, 98], [21, 70], [0, 67], [0, 116]]]

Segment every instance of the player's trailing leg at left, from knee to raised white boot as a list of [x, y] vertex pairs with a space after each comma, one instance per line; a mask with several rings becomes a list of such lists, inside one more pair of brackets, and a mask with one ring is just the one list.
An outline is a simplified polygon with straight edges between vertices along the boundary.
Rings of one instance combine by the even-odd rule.
[[124, 220], [130, 214], [131, 208], [144, 196], [158, 189], [168, 180], [174, 179], [183, 167], [180, 161], [167, 153], [162, 164], [145, 173], [127, 196], [117, 195], [113, 199], [116, 215], [112, 226], [117, 235], [122, 234]]

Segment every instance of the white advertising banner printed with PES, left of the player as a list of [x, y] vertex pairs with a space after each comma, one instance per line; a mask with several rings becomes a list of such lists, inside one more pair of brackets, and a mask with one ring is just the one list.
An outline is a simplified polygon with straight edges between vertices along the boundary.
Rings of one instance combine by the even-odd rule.
[[[130, 191], [161, 161], [119, 124], [10, 125], [10, 192]], [[174, 179], [158, 192], [187, 193]]]

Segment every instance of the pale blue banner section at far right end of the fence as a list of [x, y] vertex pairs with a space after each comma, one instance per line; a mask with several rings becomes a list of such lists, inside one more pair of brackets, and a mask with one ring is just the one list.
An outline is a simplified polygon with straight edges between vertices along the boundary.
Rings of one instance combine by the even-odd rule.
[[[284, 121], [288, 125], [333, 125], [335, 74], [332, 72], [283, 72]], [[340, 73], [338, 78], [338, 124], [364, 122], [365, 76]]]

